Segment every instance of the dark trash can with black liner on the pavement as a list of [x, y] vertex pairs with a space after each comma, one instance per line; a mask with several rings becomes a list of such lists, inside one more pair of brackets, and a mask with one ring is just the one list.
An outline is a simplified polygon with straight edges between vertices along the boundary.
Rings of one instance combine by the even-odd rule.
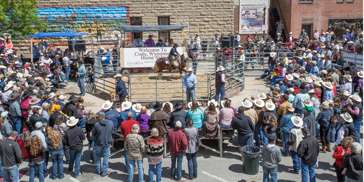
[[259, 159], [262, 149], [257, 146], [247, 145], [241, 148], [243, 154], [243, 171], [249, 175], [255, 175], [259, 172]]

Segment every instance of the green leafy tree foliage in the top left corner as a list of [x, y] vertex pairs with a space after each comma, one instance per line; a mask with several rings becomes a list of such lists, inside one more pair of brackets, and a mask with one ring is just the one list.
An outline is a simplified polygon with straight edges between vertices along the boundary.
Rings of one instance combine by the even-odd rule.
[[37, 0], [0, 0], [0, 4], [0, 33], [24, 36], [47, 31], [48, 25], [36, 8]]

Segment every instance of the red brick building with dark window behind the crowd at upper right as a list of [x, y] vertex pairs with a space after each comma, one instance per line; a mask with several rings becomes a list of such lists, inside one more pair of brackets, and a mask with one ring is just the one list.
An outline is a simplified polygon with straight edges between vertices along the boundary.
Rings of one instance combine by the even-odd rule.
[[[327, 32], [330, 27], [340, 42], [345, 29], [355, 28], [359, 34], [363, 31], [363, 0], [271, 0], [270, 8], [273, 10], [270, 13], [276, 8], [279, 19], [285, 24], [285, 35], [292, 32], [298, 37], [305, 29], [313, 39], [315, 29]], [[273, 30], [271, 25], [271, 35], [275, 35]]]

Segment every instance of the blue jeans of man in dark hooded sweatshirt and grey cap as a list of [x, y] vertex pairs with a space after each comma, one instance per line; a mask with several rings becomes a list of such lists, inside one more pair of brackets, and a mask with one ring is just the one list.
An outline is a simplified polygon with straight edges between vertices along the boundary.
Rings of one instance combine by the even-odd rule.
[[[102, 171], [101, 171], [101, 153], [104, 156], [102, 161]], [[100, 174], [102, 172], [102, 175], [106, 175], [107, 170], [109, 169], [110, 144], [107, 146], [95, 145], [95, 154], [96, 154], [95, 166], [97, 173]]]

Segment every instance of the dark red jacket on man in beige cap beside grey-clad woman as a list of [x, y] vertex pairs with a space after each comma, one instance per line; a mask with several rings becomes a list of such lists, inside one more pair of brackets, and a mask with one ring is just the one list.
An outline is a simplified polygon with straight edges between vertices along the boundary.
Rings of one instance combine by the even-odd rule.
[[181, 151], [187, 150], [187, 137], [181, 130], [170, 130], [167, 143], [171, 155], [178, 155]]

